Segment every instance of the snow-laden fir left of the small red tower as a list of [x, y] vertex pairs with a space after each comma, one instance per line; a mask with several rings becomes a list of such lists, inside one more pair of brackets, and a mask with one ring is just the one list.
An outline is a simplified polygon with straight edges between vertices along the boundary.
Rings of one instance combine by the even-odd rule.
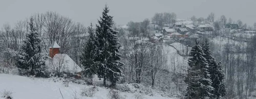
[[29, 33], [18, 55], [18, 67], [26, 70], [27, 75], [44, 76], [46, 56], [41, 53], [41, 39], [35, 31], [33, 18], [30, 18]]

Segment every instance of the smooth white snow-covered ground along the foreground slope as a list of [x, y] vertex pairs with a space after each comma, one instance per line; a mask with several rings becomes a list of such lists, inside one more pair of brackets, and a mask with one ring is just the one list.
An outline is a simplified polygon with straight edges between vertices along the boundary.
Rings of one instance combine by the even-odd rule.
[[[75, 83], [69, 83], [69, 87], [65, 87], [62, 81], [54, 82], [53, 79], [42, 79], [42, 78], [28, 78], [22, 76], [7, 75], [0, 73], [0, 91], [4, 90], [11, 91], [13, 98], [18, 99], [60, 99], [62, 98], [60, 91], [63, 95], [63, 98], [72, 99], [75, 94], [79, 98], [98, 98], [104, 99], [108, 98], [108, 93], [110, 89], [104, 87], [97, 87], [93, 97], [82, 97], [80, 95], [81, 89], [89, 88], [92, 86], [80, 85]], [[60, 91], [59, 91], [60, 89]], [[120, 92], [120, 94], [125, 98], [135, 98], [136, 93]], [[0, 94], [0, 98], [2, 94]], [[160, 95], [148, 96], [143, 95], [144, 98], [159, 98], [165, 99], [168, 97], [162, 97]]]

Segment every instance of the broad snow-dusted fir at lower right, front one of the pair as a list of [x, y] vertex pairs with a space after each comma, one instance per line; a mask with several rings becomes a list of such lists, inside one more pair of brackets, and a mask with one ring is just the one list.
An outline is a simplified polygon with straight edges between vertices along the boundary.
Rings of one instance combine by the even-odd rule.
[[188, 59], [188, 74], [185, 78], [188, 98], [210, 98], [212, 97], [211, 80], [208, 71], [208, 64], [203, 57], [202, 47], [196, 42], [196, 45], [191, 49], [191, 58]]

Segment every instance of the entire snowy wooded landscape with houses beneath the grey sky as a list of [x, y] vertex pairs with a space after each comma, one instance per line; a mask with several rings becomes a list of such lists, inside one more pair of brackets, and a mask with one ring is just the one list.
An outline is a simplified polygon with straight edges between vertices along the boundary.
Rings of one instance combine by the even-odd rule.
[[119, 24], [111, 11], [90, 26], [53, 11], [2, 23], [0, 98], [256, 98], [256, 23], [157, 12]]

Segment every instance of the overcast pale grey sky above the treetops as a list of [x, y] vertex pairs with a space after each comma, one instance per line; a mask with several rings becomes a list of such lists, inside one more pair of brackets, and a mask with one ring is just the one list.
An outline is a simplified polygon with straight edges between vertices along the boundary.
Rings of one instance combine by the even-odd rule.
[[217, 18], [225, 15], [250, 26], [256, 22], [256, 0], [0, 0], [0, 27], [5, 22], [13, 26], [33, 13], [46, 11], [56, 11], [89, 26], [97, 22], [105, 4], [118, 24], [151, 19], [156, 12], [175, 12], [180, 19], [207, 17], [214, 12]]

